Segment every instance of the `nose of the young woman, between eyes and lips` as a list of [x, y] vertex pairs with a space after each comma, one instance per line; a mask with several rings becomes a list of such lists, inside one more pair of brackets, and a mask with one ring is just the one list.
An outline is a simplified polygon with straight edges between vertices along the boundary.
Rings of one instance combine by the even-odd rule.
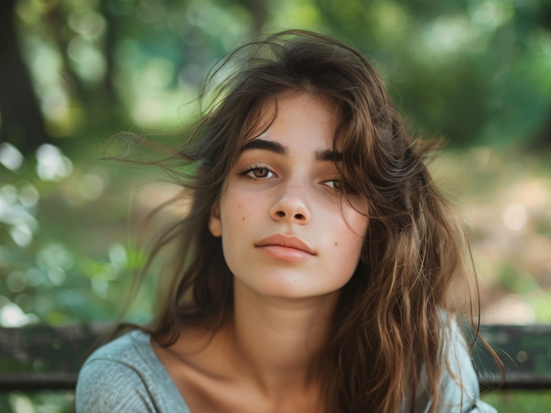
[[306, 189], [302, 185], [287, 184], [280, 197], [270, 208], [270, 216], [275, 221], [289, 221], [307, 224], [311, 211], [307, 202]]

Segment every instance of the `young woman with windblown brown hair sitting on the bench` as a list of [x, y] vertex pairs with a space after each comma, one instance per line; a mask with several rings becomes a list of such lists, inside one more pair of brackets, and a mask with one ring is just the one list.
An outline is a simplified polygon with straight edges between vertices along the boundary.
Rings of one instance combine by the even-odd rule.
[[493, 412], [449, 300], [464, 231], [373, 67], [288, 31], [220, 78], [160, 313], [87, 360], [77, 412]]

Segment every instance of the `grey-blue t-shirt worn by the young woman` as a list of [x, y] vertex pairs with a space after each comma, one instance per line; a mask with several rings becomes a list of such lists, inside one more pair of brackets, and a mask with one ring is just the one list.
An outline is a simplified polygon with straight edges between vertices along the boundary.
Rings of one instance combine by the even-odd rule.
[[[440, 411], [495, 413], [493, 407], [479, 400], [475, 370], [457, 326], [450, 337], [446, 355], [462, 386], [444, 370]], [[415, 413], [424, 413], [429, 407], [430, 399], [421, 395]], [[149, 335], [139, 330], [98, 348], [87, 359], [76, 385], [76, 412], [190, 413], [157, 358]]]

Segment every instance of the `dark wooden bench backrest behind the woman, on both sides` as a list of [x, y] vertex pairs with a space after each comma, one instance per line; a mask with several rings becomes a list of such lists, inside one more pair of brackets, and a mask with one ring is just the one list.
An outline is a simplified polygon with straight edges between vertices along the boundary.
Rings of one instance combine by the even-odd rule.
[[[72, 390], [102, 325], [0, 328], [0, 391]], [[551, 325], [481, 326], [506, 366], [501, 389], [551, 390]], [[484, 346], [473, 350], [481, 388], [495, 389], [499, 369]]]

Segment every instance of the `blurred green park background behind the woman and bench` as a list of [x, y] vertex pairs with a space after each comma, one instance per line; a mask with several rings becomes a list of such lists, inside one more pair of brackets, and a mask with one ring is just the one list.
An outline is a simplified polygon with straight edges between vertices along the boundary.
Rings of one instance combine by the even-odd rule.
[[[2, 0], [1, 326], [120, 314], [143, 262], [141, 218], [175, 189], [100, 160], [105, 143], [183, 127], [211, 65], [285, 28], [360, 48], [412, 131], [449, 141], [431, 168], [470, 235], [481, 321], [551, 323], [551, 1]], [[150, 278], [128, 319], [149, 317]], [[0, 412], [71, 400], [0, 394]], [[551, 405], [545, 392], [486, 400]]]

